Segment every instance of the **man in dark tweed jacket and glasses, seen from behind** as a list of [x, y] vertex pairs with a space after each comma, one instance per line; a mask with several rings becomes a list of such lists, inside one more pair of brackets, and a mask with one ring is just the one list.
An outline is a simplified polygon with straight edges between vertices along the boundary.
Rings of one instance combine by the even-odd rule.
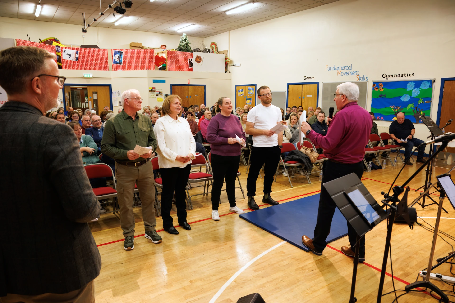
[[54, 58], [29, 46], [0, 52], [9, 100], [0, 108], [3, 303], [95, 300], [101, 257], [87, 222], [100, 205], [73, 130], [43, 116], [65, 80]]

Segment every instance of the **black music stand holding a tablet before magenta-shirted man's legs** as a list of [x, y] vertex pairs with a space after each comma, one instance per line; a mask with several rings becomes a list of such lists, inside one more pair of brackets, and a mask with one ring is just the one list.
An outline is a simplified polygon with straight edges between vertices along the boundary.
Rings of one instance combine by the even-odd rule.
[[[359, 264], [359, 240], [365, 235], [365, 233], [379, 224], [379, 222], [387, 219], [389, 215], [386, 211], [384, 211], [384, 209], [381, 208], [378, 202], [376, 202], [373, 196], [369, 193], [368, 189], [366, 189], [362, 181], [360, 181], [359, 177], [354, 173], [326, 182], [322, 184], [322, 186], [324, 186], [327, 190], [330, 197], [334, 200], [335, 204], [337, 204], [341, 214], [343, 214], [344, 218], [346, 218], [357, 233], [354, 268], [352, 271], [351, 296], [349, 298], [349, 303], [354, 303], [357, 301], [357, 298], [354, 297], [354, 292], [355, 281], [357, 278], [357, 265]], [[375, 219], [373, 223], [369, 222], [372, 221], [370, 214], [368, 212], [362, 214], [352, 198], [346, 194], [346, 192], [356, 189], [360, 191], [364, 199], [366, 199], [369, 203], [368, 206], [371, 206], [376, 212], [378, 217], [375, 217], [377, 219]], [[369, 218], [366, 218], [365, 214]]]

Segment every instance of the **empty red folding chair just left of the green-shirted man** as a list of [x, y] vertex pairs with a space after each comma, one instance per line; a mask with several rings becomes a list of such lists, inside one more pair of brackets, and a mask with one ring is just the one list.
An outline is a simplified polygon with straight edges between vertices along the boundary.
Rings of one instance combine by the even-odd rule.
[[[114, 188], [110, 186], [102, 186], [96, 187], [93, 190], [93, 193], [96, 195], [96, 199], [98, 201], [106, 200], [110, 198], [114, 198], [114, 202], [112, 203], [112, 211], [109, 213], [116, 212], [116, 198], [117, 198], [117, 190], [116, 190], [116, 182], [114, 178], [114, 172], [112, 171], [111, 167], [104, 163], [96, 163], [96, 164], [87, 164], [84, 165], [84, 169], [86, 170], [86, 174], [88, 179], [95, 179], [95, 178], [108, 178], [111, 177], [114, 181]], [[103, 204], [108, 203], [103, 202]], [[101, 204], [101, 203], [100, 203]]]

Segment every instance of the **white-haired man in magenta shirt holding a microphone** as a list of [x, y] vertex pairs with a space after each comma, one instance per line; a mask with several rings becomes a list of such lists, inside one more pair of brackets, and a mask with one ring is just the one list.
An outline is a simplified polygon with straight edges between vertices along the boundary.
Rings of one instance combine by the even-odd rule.
[[[330, 225], [337, 207], [322, 184], [351, 173], [357, 174], [361, 179], [364, 173], [365, 146], [368, 144], [373, 119], [366, 109], [357, 104], [358, 98], [359, 86], [357, 84], [345, 82], [337, 86], [334, 101], [339, 112], [332, 119], [325, 136], [312, 130], [308, 123], [302, 123], [302, 131], [306, 133], [313, 144], [323, 148], [325, 155], [329, 158], [329, 161], [324, 163], [323, 168], [318, 220], [314, 228], [314, 238], [302, 236], [303, 244], [318, 256], [322, 255], [327, 246], [325, 240], [329, 236]], [[345, 255], [354, 257], [357, 233], [349, 222], [348, 235], [351, 247], [343, 246], [341, 251]], [[358, 245], [360, 245], [359, 261], [364, 262], [365, 237], [360, 238]]]

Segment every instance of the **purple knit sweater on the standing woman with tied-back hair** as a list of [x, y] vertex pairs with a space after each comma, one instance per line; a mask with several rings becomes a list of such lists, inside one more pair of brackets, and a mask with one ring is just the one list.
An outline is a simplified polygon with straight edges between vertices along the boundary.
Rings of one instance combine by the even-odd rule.
[[227, 143], [227, 139], [235, 138], [236, 134], [240, 139], [246, 141], [245, 132], [236, 115], [230, 114], [229, 117], [222, 114], [215, 115], [210, 119], [207, 127], [206, 140], [210, 143], [211, 153], [221, 156], [240, 155], [242, 145]]

